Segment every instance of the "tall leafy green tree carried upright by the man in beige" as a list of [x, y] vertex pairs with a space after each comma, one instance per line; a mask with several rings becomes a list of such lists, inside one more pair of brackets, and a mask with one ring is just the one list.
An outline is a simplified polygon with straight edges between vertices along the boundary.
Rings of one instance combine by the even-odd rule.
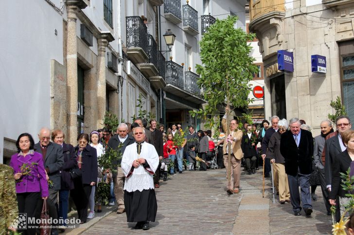
[[[247, 108], [251, 101], [248, 99], [251, 90], [248, 82], [258, 72], [258, 67], [249, 56], [252, 47], [247, 41], [252, 40], [255, 34], [247, 34], [242, 29], [235, 28], [236, 21], [236, 16], [217, 19], [200, 42], [200, 59], [203, 65], [196, 65], [196, 72], [200, 75], [197, 84], [203, 88], [207, 104], [204, 109], [191, 111], [191, 115], [205, 119], [205, 126], [209, 129], [220, 125], [220, 120], [213, 118], [213, 115], [218, 114], [217, 105], [226, 103], [230, 107]], [[227, 111], [228, 116], [230, 111]], [[208, 117], [208, 114], [211, 116]], [[240, 118], [251, 123], [250, 114], [243, 113], [238, 117]], [[227, 125], [229, 130], [229, 122]], [[229, 162], [230, 159], [229, 156]], [[228, 172], [230, 180], [230, 164]]]

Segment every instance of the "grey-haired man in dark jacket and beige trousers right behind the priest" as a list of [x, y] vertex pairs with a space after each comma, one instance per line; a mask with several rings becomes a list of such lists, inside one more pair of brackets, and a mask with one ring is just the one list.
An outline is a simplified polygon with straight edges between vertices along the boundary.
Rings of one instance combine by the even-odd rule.
[[[122, 143], [122, 146], [119, 150], [119, 153], [124, 154], [124, 150], [126, 146], [129, 144], [132, 144], [135, 142], [134, 137], [128, 135], [128, 125], [125, 123], [121, 123], [118, 125], [117, 128], [117, 134], [115, 134], [112, 138], [109, 139], [108, 141], [108, 147], [112, 149], [117, 149], [118, 146]], [[122, 160], [119, 160], [117, 164], [121, 164]], [[122, 214], [125, 212], [125, 207], [124, 207], [124, 192], [123, 192], [123, 186], [124, 186], [124, 180], [125, 180], [125, 175], [120, 166], [117, 166], [117, 175], [113, 175], [113, 183], [114, 183], [114, 195], [116, 197], [116, 201], [118, 204], [118, 209], [116, 211], [117, 214]]]

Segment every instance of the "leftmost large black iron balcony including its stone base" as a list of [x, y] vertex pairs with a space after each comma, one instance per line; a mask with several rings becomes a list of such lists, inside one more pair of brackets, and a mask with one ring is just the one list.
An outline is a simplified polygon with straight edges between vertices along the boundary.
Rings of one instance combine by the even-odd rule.
[[148, 61], [147, 27], [140, 16], [126, 17], [126, 54], [130, 60], [137, 63]]

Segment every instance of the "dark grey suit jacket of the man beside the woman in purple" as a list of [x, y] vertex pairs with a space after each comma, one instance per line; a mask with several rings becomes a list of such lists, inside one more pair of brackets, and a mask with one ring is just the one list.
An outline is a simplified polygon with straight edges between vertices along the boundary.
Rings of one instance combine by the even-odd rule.
[[[42, 154], [42, 149], [39, 142], [35, 144], [35, 151]], [[47, 154], [44, 160], [44, 168], [49, 169], [49, 180], [53, 181], [53, 186], [49, 186], [54, 190], [60, 189], [60, 171], [59, 169], [64, 165], [63, 150], [61, 145], [49, 142], [47, 147]]]

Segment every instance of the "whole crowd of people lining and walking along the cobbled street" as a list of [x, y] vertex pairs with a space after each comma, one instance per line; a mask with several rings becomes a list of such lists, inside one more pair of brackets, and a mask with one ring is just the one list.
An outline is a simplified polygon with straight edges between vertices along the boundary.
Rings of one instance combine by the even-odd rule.
[[[327, 214], [332, 214], [331, 205], [335, 205], [339, 221], [350, 201], [340, 174], [354, 161], [354, 131], [349, 117], [337, 117], [336, 131], [331, 121], [322, 121], [321, 134], [315, 138], [311, 128], [298, 118], [288, 122], [273, 116], [270, 121], [264, 120], [261, 128], [248, 123], [239, 128], [238, 120], [225, 114], [218, 137], [212, 138], [211, 130], [195, 131], [194, 126], [188, 126], [184, 133], [180, 124], [172, 124], [165, 131], [156, 120], [150, 120], [148, 126], [146, 120], [138, 118], [132, 124], [121, 123], [114, 135], [106, 128], [79, 134], [75, 147], [65, 142], [62, 130], [41, 128], [37, 143], [31, 134], [22, 133], [16, 141], [18, 153], [9, 164], [18, 204], [18, 210], [13, 210], [39, 218], [46, 202], [55, 221], [55, 235], [65, 231], [68, 223], [69, 197], [80, 223], [102, 212], [102, 202], [96, 200], [95, 193], [97, 184], [104, 181], [110, 188], [109, 205], [117, 203], [116, 213], [126, 212], [128, 222], [148, 230], [149, 221], [156, 218], [155, 188], [160, 187], [160, 179], [167, 181], [168, 174], [187, 169], [207, 171], [212, 160], [218, 168], [227, 169], [229, 194], [240, 192], [241, 166], [251, 175], [263, 162], [264, 177], [270, 177], [272, 169], [279, 203], [291, 203], [295, 216], [300, 216], [301, 210], [306, 217], [311, 216], [319, 185]], [[98, 164], [108, 149], [123, 155], [114, 162], [117, 171]], [[31, 227], [21, 232], [38, 233]]]

